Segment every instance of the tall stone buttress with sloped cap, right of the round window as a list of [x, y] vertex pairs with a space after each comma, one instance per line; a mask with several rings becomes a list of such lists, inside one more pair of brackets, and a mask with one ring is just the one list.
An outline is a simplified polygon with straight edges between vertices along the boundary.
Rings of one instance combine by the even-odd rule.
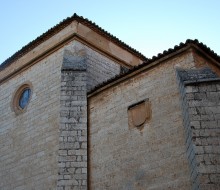
[[61, 71], [57, 189], [87, 189], [86, 64], [82, 51], [64, 52]]

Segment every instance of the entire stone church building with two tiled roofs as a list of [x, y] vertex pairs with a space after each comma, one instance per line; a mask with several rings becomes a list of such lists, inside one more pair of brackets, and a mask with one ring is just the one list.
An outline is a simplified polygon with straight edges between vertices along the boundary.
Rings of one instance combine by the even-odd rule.
[[0, 65], [0, 189], [220, 189], [220, 57], [63, 20]]

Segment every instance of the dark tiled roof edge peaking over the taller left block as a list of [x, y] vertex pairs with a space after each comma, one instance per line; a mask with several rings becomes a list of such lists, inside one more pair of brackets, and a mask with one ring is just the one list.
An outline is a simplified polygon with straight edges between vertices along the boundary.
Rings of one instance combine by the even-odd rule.
[[112, 34], [108, 33], [107, 31], [105, 31], [104, 29], [102, 29], [101, 27], [96, 25], [95, 23], [91, 22], [90, 20], [85, 19], [82, 16], [78, 16], [76, 13], [74, 13], [74, 15], [72, 17], [67, 17], [66, 19], [61, 21], [59, 24], [55, 25], [54, 27], [49, 29], [47, 32], [43, 33], [42, 35], [37, 37], [35, 40], [33, 40], [30, 43], [28, 43], [27, 45], [25, 45], [19, 51], [14, 53], [11, 57], [6, 59], [0, 65], [0, 70], [2, 70], [3, 68], [7, 67], [12, 62], [16, 61], [17, 59], [19, 59], [23, 55], [27, 54], [29, 51], [33, 50], [35, 47], [37, 47], [41, 43], [45, 42], [46, 40], [48, 40], [49, 38], [51, 38], [52, 36], [54, 36], [55, 34], [60, 32], [66, 26], [71, 24], [71, 22], [73, 22], [73, 21], [78, 21], [78, 22], [84, 24], [85, 26], [87, 26], [87, 27], [91, 28], [92, 30], [94, 30], [95, 32], [97, 32], [98, 34], [100, 34], [103, 37], [107, 38], [109, 41], [114, 42], [118, 46], [122, 47], [126, 51], [128, 51], [128, 52], [130, 52], [132, 54], [135, 54], [137, 57], [139, 57], [142, 60], [147, 60], [147, 58], [143, 54], [141, 54], [137, 50], [133, 49], [129, 45], [125, 44], [124, 42], [119, 40], [117, 37], [115, 37]]

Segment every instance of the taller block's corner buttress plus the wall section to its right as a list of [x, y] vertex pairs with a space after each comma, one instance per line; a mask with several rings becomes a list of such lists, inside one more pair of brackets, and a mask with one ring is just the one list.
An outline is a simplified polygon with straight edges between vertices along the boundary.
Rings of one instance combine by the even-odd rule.
[[120, 66], [74, 41], [61, 70], [58, 189], [87, 189], [87, 91], [115, 76]]

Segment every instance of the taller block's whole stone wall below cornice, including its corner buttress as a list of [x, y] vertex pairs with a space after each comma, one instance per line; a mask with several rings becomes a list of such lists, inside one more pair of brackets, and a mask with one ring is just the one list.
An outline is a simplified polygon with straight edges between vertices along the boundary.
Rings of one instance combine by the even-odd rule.
[[[87, 189], [87, 98], [120, 72], [104, 55], [73, 41], [0, 86], [0, 189]], [[24, 82], [27, 110], [11, 109]]]

